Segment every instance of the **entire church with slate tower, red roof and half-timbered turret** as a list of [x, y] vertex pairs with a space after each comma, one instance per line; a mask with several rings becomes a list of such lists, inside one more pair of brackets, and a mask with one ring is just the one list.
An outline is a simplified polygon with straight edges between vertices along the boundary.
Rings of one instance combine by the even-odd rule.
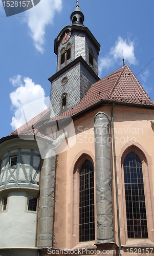
[[0, 255], [154, 255], [154, 102], [76, 1], [54, 42], [50, 108], [0, 140]]

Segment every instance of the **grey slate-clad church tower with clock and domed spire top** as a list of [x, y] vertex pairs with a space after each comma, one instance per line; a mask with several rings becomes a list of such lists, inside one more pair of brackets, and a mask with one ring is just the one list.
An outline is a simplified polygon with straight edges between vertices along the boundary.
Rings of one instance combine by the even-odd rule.
[[60, 31], [54, 45], [57, 73], [50, 77], [49, 81], [51, 106], [55, 116], [73, 108], [91, 85], [99, 80], [100, 45], [91, 31], [83, 25], [84, 15], [80, 11], [78, 1], [70, 18], [71, 25]]

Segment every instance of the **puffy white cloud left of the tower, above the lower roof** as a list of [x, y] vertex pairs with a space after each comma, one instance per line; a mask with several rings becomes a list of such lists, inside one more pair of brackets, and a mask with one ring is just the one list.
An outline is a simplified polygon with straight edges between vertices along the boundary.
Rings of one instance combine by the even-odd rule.
[[[18, 88], [10, 93], [12, 103], [11, 109], [16, 111], [15, 117], [12, 117], [11, 126], [13, 130], [31, 120], [43, 110], [47, 109], [45, 104], [45, 91], [39, 84], [35, 84], [29, 77], [24, 77], [24, 83], [21, 82], [21, 76], [17, 75], [10, 78], [11, 83]], [[24, 111], [24, 114], [23, 114]]]

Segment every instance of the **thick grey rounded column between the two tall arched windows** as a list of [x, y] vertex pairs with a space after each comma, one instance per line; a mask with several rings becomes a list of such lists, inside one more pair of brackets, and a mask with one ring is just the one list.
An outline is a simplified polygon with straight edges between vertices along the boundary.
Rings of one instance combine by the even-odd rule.
[[103, 113], [95, 116], [97, 242], [114, 242], [111, 155], [109, 126], [111, 120]]

